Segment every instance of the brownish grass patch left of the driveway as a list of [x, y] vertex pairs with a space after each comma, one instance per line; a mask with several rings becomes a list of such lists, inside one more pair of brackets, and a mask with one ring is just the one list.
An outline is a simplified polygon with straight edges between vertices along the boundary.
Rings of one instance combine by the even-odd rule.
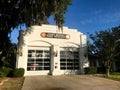
[[8, 78], [3, 85], [0, 86], [0, 90], [21, 90], [24, 82], [24, 77], [20, 78]]

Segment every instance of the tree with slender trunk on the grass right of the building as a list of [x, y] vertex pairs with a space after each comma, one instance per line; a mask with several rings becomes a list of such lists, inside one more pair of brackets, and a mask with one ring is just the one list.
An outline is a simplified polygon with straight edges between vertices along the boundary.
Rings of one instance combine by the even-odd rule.
[[109, 77], [109, 72], [112, 63], [119, 60], [120, 56], [120, 26], [112, 28], [111, 30], [104, 30], [91, 34], [90, 38], [93, 40], [94, 55], [106, 67], [106, 75]]

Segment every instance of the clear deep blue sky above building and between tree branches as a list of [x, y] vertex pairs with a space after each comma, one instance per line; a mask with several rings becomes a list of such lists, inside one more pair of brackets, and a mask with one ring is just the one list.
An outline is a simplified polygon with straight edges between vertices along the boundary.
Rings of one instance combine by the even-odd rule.
[[[64, 26], [77, 29], [89, 38], [88, 32], [94, 34], [120, 25], [120, 0], [72, 0], [64, 16]], [[49, 22], [55, 25], [52, 16]], [[13, 43], [18, 42], [19, 29], [11, 33]]]

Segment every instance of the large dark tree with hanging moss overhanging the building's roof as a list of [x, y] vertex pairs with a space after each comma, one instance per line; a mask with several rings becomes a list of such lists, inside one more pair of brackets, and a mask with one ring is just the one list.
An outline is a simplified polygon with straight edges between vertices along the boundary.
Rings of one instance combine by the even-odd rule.
[[48, 24], [54, 16], [59, 29], [71, 0], [0, 0], [0, 60], [7, 54], [10, 33], [19, 25]]

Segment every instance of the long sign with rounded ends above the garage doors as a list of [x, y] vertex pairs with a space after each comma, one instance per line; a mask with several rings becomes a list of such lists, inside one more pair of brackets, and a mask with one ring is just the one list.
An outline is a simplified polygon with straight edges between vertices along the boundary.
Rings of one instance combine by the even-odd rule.
[[40, 35], [43, 38], [59, 38], [59, 39], [69, 39], [70, 38], [70, 35], [68, 35], [68, 34], [60, 34], [60, 33], [42, 32]]

